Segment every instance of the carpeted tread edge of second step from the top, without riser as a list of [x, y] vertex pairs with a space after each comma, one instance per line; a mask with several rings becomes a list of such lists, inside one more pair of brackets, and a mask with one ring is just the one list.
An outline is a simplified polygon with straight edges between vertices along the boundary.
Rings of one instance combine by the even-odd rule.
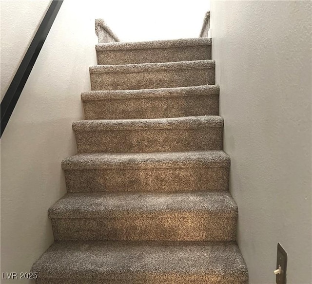
[[137, 73], [168, 70], [207, 69], [215, 68], [215, 60], [193, 60], [161, 63], [134, 63], [120, 65], [96, 65], [89, 68], [90, 74], [97, 73]]

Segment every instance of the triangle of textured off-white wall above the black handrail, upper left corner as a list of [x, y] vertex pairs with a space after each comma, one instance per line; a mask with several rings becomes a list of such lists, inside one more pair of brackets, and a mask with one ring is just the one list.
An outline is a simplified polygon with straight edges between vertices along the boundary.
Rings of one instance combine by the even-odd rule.
[[0, 0], [1, 100], [49, 4], [48, 0]]

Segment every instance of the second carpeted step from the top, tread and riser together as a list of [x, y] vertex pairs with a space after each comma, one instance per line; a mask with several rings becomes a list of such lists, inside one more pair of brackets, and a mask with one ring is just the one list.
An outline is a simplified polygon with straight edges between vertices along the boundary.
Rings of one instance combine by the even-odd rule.
[[215, 61], [97, 65], [90, 67], [92, 90], [138, 90], [215, 84]]

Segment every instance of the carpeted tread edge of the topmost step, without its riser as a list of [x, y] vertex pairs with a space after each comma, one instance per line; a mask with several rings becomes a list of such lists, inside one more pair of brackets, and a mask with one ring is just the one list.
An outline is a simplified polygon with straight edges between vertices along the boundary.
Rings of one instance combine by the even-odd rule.
[[108, 50], [133, 50], [133, 49], [154, 49], [173, 48], [185, 46], [211, 45], [211, 38], [179, 38], [135, 42], [107, 42], [96, 45], [97, 51]]

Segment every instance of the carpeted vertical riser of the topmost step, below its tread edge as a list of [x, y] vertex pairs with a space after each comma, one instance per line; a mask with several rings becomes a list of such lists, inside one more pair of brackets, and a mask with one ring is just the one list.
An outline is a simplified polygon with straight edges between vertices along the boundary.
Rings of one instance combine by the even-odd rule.
[[211, 59], [211, 45], [97, 51], [99, 65]]

